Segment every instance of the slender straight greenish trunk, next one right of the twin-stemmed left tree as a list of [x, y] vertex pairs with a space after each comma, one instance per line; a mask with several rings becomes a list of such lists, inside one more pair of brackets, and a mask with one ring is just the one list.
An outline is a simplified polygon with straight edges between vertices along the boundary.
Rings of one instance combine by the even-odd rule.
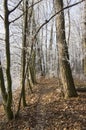
[[23, 106], [26, 106], [25, 100], [25, 67], [26, 67], [26, 37], [27, 37], [27, 17], [28, 17], [28, 1], [25, 1], [25, 15], [24, 15], [24, 27], [23, 27], [23, 41], [22, 41], [22, 99], [23, 99]]

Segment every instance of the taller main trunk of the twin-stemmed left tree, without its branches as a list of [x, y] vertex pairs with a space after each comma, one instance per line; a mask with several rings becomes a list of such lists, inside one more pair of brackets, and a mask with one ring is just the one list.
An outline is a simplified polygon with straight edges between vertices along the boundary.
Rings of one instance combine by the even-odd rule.
[[5, 111], [8, 119], [13, 118], [12, 112], [12, 80], [10, 74], [10, 41], [9, 41], [9, 10], [8, 0], [4, 0], [4, 26], [5, 26], [5, 47], [6, 47], [6, 77], [7, 77], [7, 103]]

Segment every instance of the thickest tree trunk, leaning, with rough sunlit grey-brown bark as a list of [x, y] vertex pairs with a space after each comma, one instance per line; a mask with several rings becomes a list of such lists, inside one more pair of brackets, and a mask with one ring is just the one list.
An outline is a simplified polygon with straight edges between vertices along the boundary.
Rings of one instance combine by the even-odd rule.
[[[63, 8], [63, 0], [56, 0], [56, 9], [60, 11]], [[68, 46], [65, 37], [65, 21], [64, 12], [61, 11], [57, 16], [57, 35], [58, 35], [58, 51], [59, 51], [59, 67], [60, 76], [64, 88], [64, 96], [75, 97], [77, 96], [72, 72], [69, 63]]]

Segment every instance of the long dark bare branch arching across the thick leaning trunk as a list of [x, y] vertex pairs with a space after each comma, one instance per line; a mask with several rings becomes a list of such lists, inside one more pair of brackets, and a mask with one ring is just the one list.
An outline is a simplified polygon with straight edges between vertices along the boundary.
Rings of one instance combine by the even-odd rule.
[[37, 36], [37, 34], [39, 33], [39, 31], [41, 30], [41, 28], [42, 28], [44, 25], [46, 25], [47, 23], [49, 23], [57, 14], [59, 14], [60, 12], [66, 10], [66, 9], [68, 9], [68, 8], [74, 7], [74, 6], [80, 4], [80, 3], [84, 2], [84, 1], [85, 1], [85, 0], [81, 0], [81, 1], [79, 1], [79, 2], [76, 2], [75, 4], [66, 6], [66, 7], [64, 7], [63, 9], [61, 9], [60, 11], [56, 12], [54, 15], [52, 15], [48, 20], [46, 20], [46, 21], [39, 27], [39, 29], [37, 30], [37, 32], [36, 32], [36, 34], [34, 35], [33, 39], [36, 38], [36, 36]]

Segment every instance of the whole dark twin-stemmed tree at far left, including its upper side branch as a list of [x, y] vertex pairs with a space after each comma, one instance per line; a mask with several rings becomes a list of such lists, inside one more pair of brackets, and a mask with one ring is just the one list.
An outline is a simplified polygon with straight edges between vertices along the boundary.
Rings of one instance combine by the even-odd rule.
[[8, 9], [8, 0], [4, 0], [4, 28], [5, 28], [5, 52], [6, 52], [6, 80], [7, 80], [7, 91], [4, 80], [4, 73], [0, 61], [0, 87], [3, 97], [3, 105], [7, 115], [8, 120], [13, 119], [13, 110], [12, 110], [12, 79], [11, 79], [11, 59], [10, 59], [10, 22], [9, 15], [15, 11], [15, 9], [20, 5], [22, 0], [12, 9]]

